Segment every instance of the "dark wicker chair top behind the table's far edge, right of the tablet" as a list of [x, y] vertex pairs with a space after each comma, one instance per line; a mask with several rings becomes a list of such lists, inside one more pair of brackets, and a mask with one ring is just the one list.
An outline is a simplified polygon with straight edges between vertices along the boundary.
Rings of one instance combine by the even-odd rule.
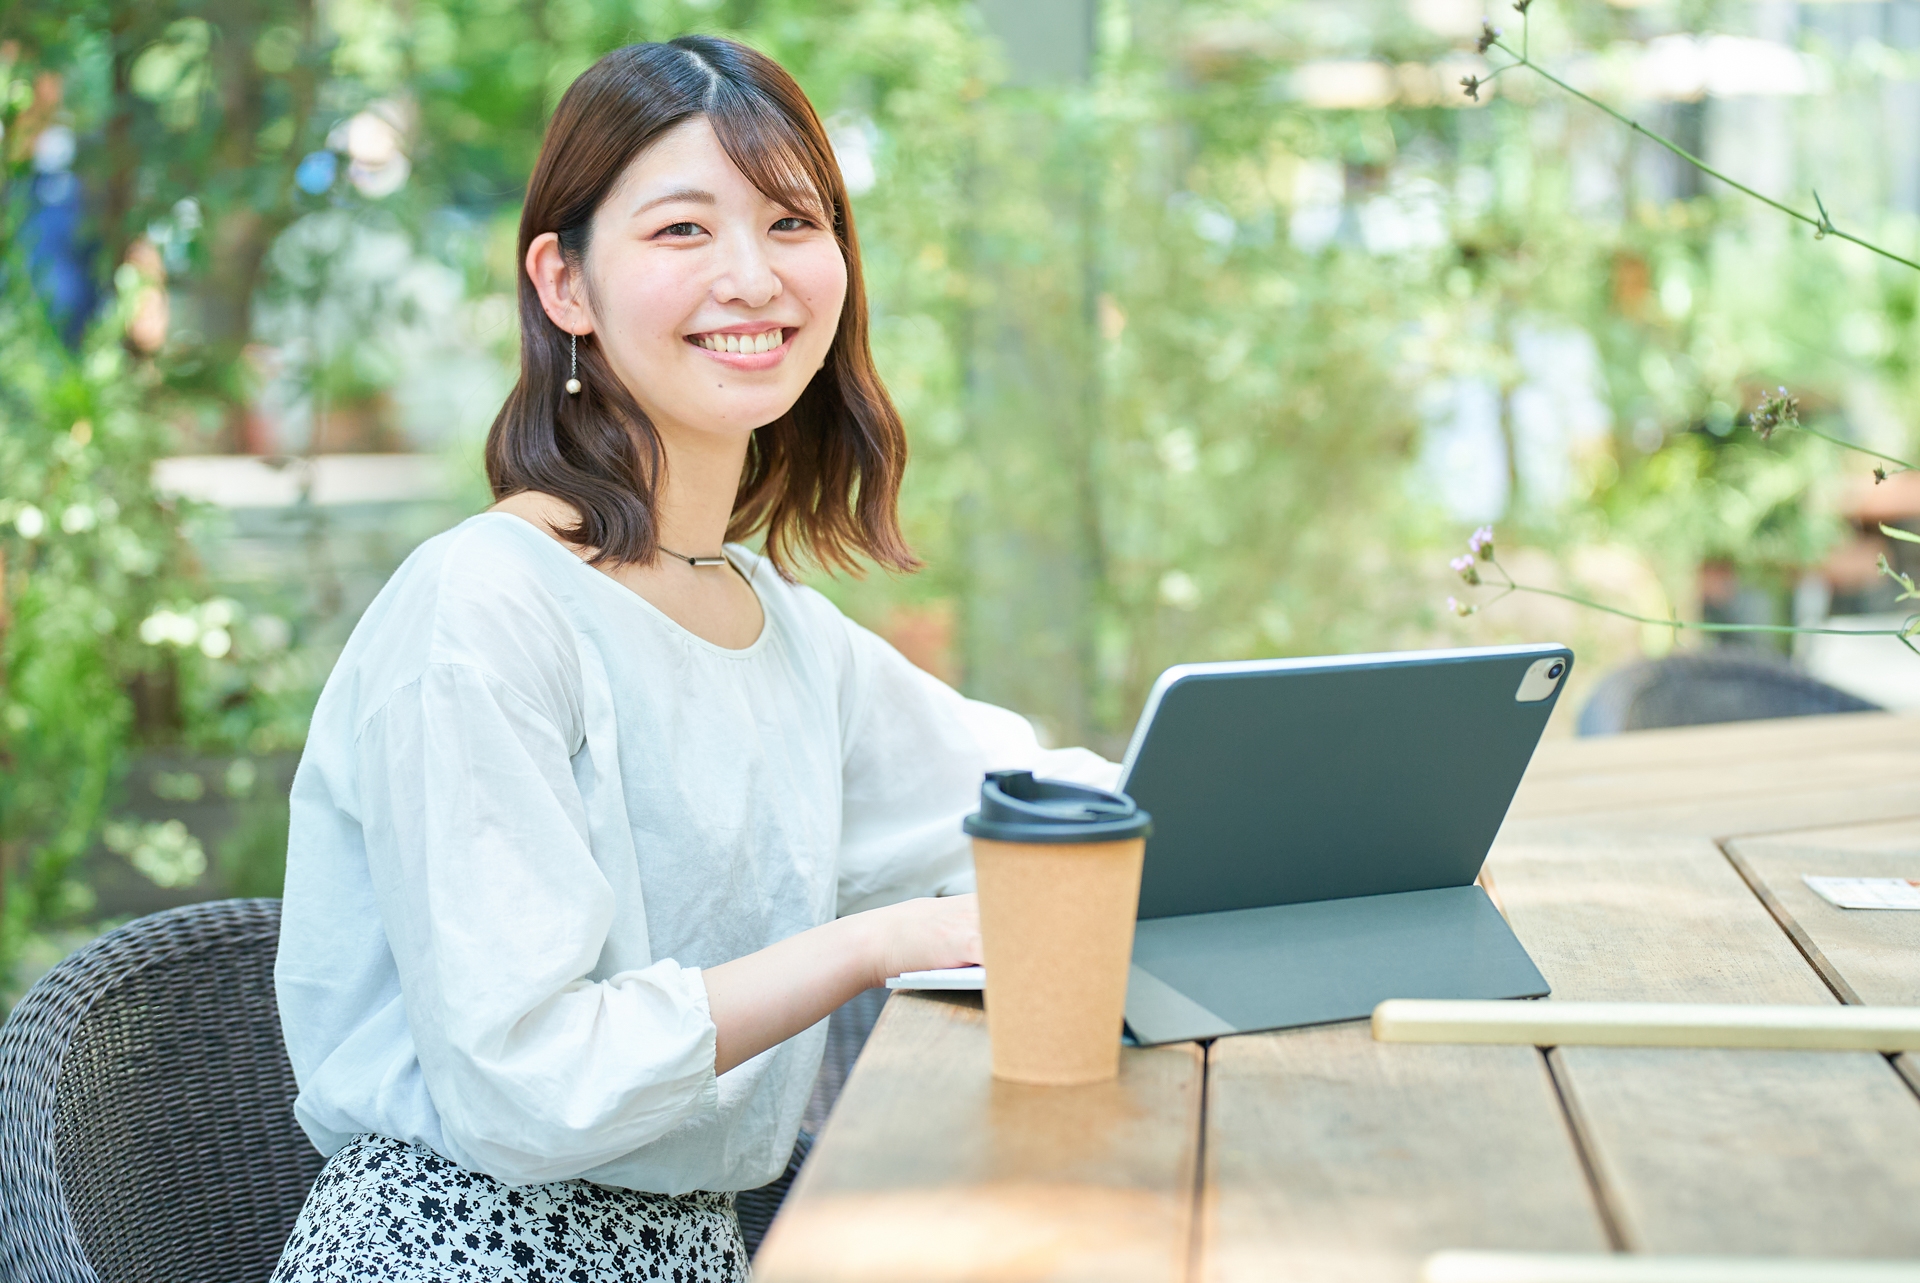
[[1580, 709], [1576, 732], [1749, 722], [1766, 716], [1878, 713], [1880, 705], [1782, 663], [1743, 655], [1668, 655], [1617, 668]]

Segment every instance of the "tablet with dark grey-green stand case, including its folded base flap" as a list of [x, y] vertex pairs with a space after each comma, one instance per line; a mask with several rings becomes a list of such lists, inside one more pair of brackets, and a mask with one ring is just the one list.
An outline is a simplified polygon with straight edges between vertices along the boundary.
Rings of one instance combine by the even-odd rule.
[[1572, 665], [1528, 645], [1167, 670], [1123, 784], [1154, 814], [1133, 1037], [1546, 995], [1475, 885], [1565, 688], [1515, 699], [1542, 659]]

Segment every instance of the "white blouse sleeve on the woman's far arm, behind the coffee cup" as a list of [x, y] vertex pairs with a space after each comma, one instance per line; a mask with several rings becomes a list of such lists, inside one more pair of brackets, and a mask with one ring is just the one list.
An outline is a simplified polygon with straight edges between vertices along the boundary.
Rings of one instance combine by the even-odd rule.
[[989, 770], [1114, 787], [1119, 764], [1087, 749], [1043, 749], [1033, 724], [968, 699], [841, 617], [847, 736], [839, 912], [973, 889], [960, 820]]

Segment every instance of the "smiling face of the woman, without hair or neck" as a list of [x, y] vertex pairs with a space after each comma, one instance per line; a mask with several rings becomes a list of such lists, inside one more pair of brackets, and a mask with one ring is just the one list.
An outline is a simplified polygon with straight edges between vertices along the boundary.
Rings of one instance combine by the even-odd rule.
[[584, 321], [653, 424], [733, 436], [787, 413], [826, 361], [847, 263], [822, 209], [770, 200], [693, 117], [601, 202], [584, 284]]

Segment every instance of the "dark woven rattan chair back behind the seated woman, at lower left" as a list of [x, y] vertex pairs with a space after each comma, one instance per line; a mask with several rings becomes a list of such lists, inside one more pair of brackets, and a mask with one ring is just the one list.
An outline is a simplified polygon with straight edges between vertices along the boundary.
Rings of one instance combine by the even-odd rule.
[[152, 914], [0, 1029], [0, 1279], [265, 1283], [321, 1154], [294, 1122], [280, 901]]

